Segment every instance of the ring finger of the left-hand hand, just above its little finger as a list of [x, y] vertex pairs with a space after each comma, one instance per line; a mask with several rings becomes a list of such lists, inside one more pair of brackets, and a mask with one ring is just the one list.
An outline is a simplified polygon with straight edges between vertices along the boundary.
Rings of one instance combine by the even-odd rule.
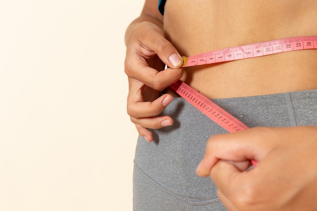
[[170, 116], [157, 116], [157, 117], [146, 117], [146, 118], [133, 118], [131, 121], [135, 124], [139, 124], [147, 129], [161, 129], [166, 126], [173, 124], [173, 119]]

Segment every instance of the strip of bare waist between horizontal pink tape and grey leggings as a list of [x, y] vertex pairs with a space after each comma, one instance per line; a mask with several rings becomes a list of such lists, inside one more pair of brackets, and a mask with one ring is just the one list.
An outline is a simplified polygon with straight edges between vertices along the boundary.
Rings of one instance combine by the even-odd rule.
[[[317, 89], [317, 50], [185, 68], [181, 80], [208, 98], [234, 98]], [[173, 94], [173, 91], [166, 92]]]

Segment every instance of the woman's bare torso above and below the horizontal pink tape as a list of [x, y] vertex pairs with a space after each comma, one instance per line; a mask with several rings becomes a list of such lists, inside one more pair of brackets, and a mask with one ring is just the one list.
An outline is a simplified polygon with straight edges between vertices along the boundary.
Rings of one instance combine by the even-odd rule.
[[[166, 37], [183, 56], [317, 35], [317, 2], [168, 0]], [[317, 89], [317, 50], [186, 68], [182, 80], [209, 98]]]

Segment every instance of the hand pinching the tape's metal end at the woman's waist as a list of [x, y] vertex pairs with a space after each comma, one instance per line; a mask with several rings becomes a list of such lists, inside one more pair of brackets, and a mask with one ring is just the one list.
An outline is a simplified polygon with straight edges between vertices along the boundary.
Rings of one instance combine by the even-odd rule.
[[[181, 78], [183, 61], [162, 29], [149, 21], [129, 26], [126, 45], [127, 112], [138, 133], [151, 142], [153, 135], [148, 129], [173, 124], [170, 116], [158, 116], [173, 100], [170, 94], [160, 96], [160, 91]], [[169, 68], [165, 69], [165, 64]]]

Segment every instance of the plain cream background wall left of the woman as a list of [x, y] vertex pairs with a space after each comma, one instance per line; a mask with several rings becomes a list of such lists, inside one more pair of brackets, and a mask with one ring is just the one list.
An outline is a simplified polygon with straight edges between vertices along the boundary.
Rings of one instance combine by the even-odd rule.
[[143, 1], [0, 0], [0, 210], [132, 210], [124, 32]]

